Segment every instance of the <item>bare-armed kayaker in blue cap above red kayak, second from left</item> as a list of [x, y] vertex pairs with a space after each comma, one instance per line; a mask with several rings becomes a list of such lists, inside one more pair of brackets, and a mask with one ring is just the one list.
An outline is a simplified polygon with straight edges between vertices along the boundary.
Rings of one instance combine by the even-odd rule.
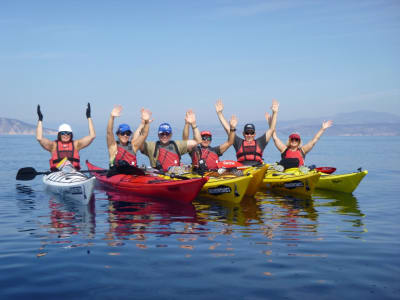
[[114, 138], [114, 119], [121, 115], [122, 106], [117, 105], [111, 111], [107, 124], [107, 148], [111, 172], [108, 176], [129, 172], [129, 166], [137, 166], [136, 153], [149, 134], [151, 112], [141, 109], [141, 125], [131, 139], [132, 131], [128, 124], [120, 124], [116, 131], [118, 140]]

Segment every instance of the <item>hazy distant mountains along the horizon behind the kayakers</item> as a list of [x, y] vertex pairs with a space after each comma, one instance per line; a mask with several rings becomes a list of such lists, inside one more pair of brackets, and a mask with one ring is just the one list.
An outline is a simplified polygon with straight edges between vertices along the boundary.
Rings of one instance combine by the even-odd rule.
[[[290, 121], [278, 119], [277, 133], [278, 135], [288, 135], [292, 132], [299, 132], [304, 136], [313, 136], [321, 128], [323, 120], [334, 121], [334, 125], [325, 132], [325, 135], [329, 136], [400, 136], [400, 116], [365, 110], [319, 118], [303, 118]], [[253, 123], [256, 126], [258, 135], [268, 128], [265, 120], [254, 121]], [[241, 135], [243, 125], [239, 124], [239, 135]], [[200, 123], [199, 127], [200, 130], [211, 130], [216, 135], [225, 134], [220, 124]], [[156, 130], [156, 126], [151, 126], [151, 134], [156, 135]], [[178, 130], [181, 132], [182, 128]], [[175, 137], [180, 137], [180, 132], [178, 135], [175, 134]], [[35, 135], [36, 125], [15, 119], [0, 118], [0, 134]], [[45, 128], [44, 134], [57, 134], [57, 130]]]

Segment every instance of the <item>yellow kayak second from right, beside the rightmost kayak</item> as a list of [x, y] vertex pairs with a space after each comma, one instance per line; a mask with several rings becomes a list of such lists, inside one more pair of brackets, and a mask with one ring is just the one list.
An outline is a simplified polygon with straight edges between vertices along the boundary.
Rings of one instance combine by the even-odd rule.
[[321, 174], [316, 171], [303, 173], [298, 168], [287, 169], [284, 172], [268, 170], [262, 187], [267, 190], [311, 196], [320, 176]]

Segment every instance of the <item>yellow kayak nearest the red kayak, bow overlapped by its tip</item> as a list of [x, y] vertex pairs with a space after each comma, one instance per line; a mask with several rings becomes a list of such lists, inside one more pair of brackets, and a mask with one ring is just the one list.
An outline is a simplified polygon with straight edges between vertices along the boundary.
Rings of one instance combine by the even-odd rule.
[[[185, 176], [198, 177], [196, 174], [185, 174]], [[209, 177], [200, 190], [199, 196], [239, 203], [246, 194], [247, 187], [252, 179], [253, 176], [251, 174], [246, 174], [245, 176], [223, 174], [218, 177]]]

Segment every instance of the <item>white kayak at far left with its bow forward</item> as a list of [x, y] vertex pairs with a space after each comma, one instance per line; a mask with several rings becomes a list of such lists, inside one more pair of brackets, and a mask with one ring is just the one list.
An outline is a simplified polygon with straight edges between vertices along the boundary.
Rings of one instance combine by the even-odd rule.
[[63, 171], [50, 173], [43, 177], [46, 189], [63, 198], [73, 199], [88, 204], [92, 197], [96, 177], [86, 177], [80, 172]]

